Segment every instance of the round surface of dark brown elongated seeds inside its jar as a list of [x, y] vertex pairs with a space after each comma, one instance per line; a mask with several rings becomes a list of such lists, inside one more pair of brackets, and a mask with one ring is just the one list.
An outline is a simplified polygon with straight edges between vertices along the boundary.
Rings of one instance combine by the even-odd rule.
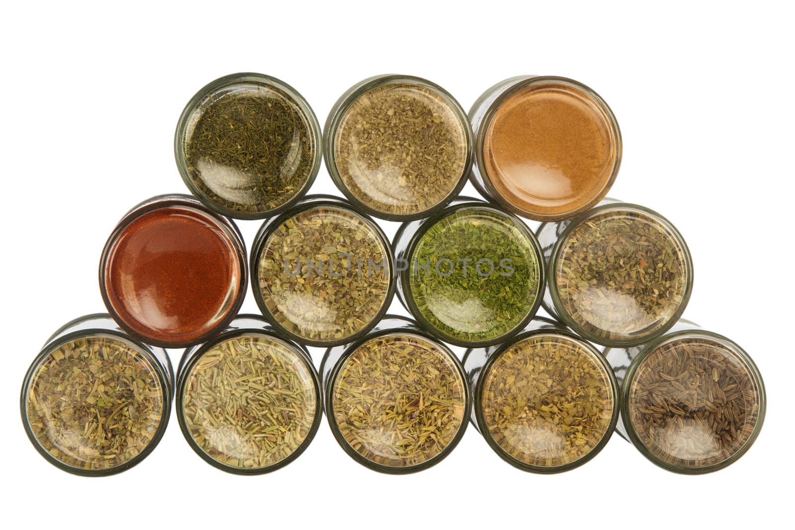
[[700, 468], [745, 447], [759, 420], [761, 389], [747, 364], [713, 339], [674, 339], [638, 365], [627, 396], [644, 447], [674, 466]]

